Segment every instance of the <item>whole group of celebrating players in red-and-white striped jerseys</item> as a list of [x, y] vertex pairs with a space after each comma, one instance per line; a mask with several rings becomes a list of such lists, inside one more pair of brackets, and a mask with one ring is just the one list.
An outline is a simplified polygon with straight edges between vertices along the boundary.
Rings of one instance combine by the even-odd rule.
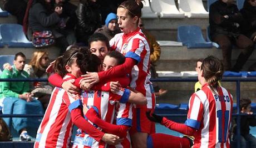
[[[121, 3], [122, 33], [110, 41], [95, 33], [91, 50], [72, 46], [51, 65], [55, 74], [49, 81], [56, 87], [34, 147], [70, 147], [74, 124], [72, 147], [229, 147], [233, 99], [219, 86], [223, 65], [213, 56], [201, 64], [201, 90], [191, 95], [185, 124], [154, 114], [150, 49], [138, 27], [142, 7], [140, 0]], [[82, 92], [71, 91], [74, 85]], [[228, 99], [216, 99], [223, 96]], [[155, 133], [155, 123], [185, 136]]]

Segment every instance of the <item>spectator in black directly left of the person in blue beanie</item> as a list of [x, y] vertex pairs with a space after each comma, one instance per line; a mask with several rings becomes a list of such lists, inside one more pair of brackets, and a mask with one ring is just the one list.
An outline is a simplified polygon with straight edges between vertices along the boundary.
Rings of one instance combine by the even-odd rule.
[[101, 27], [101, 15], [97, 0], [80, 0], [76, 15], [78, 23], [76, 26], [77, 42], [88, 45], [87, 40], [97, 28]]

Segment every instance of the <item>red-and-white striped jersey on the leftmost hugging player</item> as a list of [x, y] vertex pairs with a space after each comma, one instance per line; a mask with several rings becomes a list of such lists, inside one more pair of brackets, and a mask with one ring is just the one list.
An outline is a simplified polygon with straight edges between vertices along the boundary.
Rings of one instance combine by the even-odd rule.
[[[63, 80], [75, 79], [67, 74]], [[64, 89], [53, 89], [34, 147], [70, 147], [73, 123], [68, 106], [76, 101]]]

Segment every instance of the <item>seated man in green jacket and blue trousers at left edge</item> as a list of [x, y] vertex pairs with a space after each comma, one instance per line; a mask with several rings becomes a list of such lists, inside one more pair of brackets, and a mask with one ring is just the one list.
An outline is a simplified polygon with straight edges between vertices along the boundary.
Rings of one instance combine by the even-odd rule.
[[[26, 79], [29, 78], [27, 72], [24, 72], [26, 57], [19, 52], [15, 55], [13, 62], [13, 72], [3, 70], [1, 78], [4, 79]], [[3, 114], [43, 114], [40, 101], [32, 98], [29, 93], [29, 82], [24, 81], [4, 81], [1, 82], [0, 101], [3, 106]], [[14, 129], [18, 131], [19, 138], [22, 141], [31, 141], [31, 137], [27, 134], [27, 127], [38, 127], [38, 120], [28, 120], [28, 118], [11, 118]], [[11, 126], [11, 120], [4, 118], [6, 123]]]

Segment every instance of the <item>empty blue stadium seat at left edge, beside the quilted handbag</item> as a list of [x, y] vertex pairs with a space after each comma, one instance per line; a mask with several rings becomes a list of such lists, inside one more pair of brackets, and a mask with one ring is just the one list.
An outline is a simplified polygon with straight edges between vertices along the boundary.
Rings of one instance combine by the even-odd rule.
[[1, 24], [0, 33], [4, 44], [8, 47], [33, 47], [32, 42], [23, 33], [22, 25]]

